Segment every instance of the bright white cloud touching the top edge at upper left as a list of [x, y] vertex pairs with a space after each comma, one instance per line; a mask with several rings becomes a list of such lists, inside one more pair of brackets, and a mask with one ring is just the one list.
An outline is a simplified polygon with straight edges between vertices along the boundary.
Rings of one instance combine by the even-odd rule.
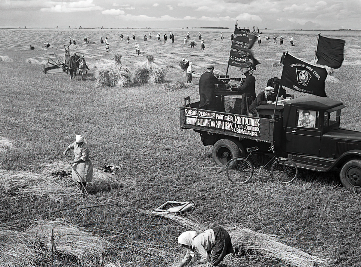
[[103, 10], [100, 6], [93, 4], [93, 0], [82, 0], [78, 2], [54, 2], [45, 1], [49, 8], [41, 8], [42, 12], [70, 13], [92, 10]]

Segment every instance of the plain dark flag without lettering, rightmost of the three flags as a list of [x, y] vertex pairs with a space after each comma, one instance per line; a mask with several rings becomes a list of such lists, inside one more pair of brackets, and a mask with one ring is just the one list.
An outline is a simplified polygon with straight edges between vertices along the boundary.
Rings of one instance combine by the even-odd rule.
[[343, 62], [344, 46], [345, 40], [331, 39], [319, 35], [316, 51], [317, 64], [338, 69]]

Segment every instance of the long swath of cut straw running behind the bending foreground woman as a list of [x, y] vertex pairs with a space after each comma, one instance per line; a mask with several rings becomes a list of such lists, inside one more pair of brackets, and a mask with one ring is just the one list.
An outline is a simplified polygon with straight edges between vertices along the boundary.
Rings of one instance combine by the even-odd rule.
[[[179, 225], [183, 225], [187, 230], [194, 230], [197, 233], [206, 229], [191, 218], [142, 209], [138, 209], [138, 212], [168, 218]], [[245, 255], [251, 255], [253, 259], [274, 259], [295, 267], [314, 267], [314, 264], [322, 266], [329, 263], [327, 260], [309, 255], [300, 249], [284, 245], [274, 237], [240, 227], [225, 228], [231, 236], [233, 248], [239, 251], [239, 255], [229, 255], [225, 258], [225, 264], [228, 266], [243, 266], [242, 260]]]

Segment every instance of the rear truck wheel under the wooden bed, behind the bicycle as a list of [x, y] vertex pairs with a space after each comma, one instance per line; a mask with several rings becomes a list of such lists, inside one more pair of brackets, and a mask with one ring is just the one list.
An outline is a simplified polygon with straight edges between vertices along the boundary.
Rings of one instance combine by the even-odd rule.
[[240, 151], [235, 142], [228, 139], [220, 139], [213, 145], [213, 161], [219, 164], [227, 164], [232, 158], [239, 157]]

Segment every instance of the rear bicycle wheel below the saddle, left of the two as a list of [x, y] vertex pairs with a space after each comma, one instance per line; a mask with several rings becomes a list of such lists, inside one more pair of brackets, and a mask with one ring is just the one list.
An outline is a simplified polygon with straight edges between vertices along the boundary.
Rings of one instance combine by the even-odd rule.
[[252, 164], [244, 158], [234, 158], [227, 164], [226, 173], [232, 183], [243, 184], [251, 180], [253, 167]]

